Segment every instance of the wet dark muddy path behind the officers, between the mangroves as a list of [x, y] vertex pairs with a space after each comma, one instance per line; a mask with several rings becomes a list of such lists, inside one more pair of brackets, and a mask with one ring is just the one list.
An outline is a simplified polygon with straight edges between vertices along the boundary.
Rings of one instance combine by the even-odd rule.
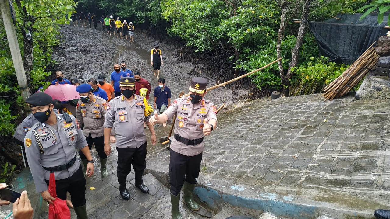
[[[65, 78], [77, 78], [81, 83], [85, 83], [89, 78], [97, 78], [99, 74], [103, 74], [106, 77], [106, 82], [110, 83], [113, 64], [124, 61], [128, 69], [133, 72], [140, 71], [142, 77], [151, 83], [150, 97], [152, 102], [153, 89], [158, 86], [158, 81], [150, 64], [150, 50], [153, 44], [158, 41], [135, 32], [135, 42], [128, 42], [114, 35], [110, 36], [102, 30], [91, 30], [73, 25], [62, 26], [60, 32], [62, 43], [55, 49], [53, 58], [59, 63], [59, 70], [64, 72]], [[180, 92], [188, 92], [190, 78], [193, 77], [188, 73], [195, 65], [188, 62], [178, 62], [175, 46], [163, 42], [159, 42], [159, 45], [163, 52], [164, 62], [161, 66], [160, 78], [165, 79], [167, 87], [171, 89], [172, 99], [175, 99]], [[204, 75], [202, 77], [207, 78]], [[211, 87], [215, 83], [209, 79], [207, 87]], [[223, 103], [241, 105], [237, 97], [248, 94], [248, 90], [236, 90], [236, 92], [237, 94], [233, 95], [229, 88], [221, 87], [211, 90], [206, 98], [210, 99], [217, 107]]]

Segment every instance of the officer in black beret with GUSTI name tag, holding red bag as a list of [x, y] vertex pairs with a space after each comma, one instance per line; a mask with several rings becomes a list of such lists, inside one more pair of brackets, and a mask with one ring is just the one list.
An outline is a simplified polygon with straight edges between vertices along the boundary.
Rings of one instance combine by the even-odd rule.
[[68, 118], [53, 112], [51, 97], [43, 92], [35, 93], [26, 100], [35, 119], [38, 120], [25, 137], [27, 160], [35, 188], [44, 200], [53, 203], [48, 191], [50, 172], [54, 173], [57, 198], [66, 199], [71, 194], [78, 219], [87, 219], [85, 205], [85, 178], [76, 151], [79, 148], [88, 159], [87, 175], [92, 176], [94, 165], [87, 141], [80, 125], [73, 116]]

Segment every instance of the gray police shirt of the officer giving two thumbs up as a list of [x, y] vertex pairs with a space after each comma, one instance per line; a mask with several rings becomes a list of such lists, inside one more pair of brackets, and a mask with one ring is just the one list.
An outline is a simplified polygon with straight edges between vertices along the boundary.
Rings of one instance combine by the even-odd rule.
[[[167, 114], [168, 118], [172, 118], [176, 113], [175, 133], [189, 140], [204, 137], [205, 118], [207, 120], [217, 120], [214, 104], [209, 100], [202, 99], [199, 104], [194, 106], [190, 97], [181, 97], [174, 100], [163, 113]], [[203, 152], [204, 142], [202, 141], [197, 145], [186, 145], [174, 138], [170, 148], [179, 154], [194, 156]]]

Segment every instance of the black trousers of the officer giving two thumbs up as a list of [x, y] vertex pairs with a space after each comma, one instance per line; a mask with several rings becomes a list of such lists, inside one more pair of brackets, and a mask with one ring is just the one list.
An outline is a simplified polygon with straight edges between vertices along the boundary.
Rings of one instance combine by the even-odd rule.
[[174, 196], [180, 194], [181, 187], [184, 181], [189, 184], [196, 184], [196, 178], [199, 177], [200, 162], [202, 161], [202, 153], [195, 156], [186, 156], [170, 151], [169, 162], [169, 185], [170, 191]]

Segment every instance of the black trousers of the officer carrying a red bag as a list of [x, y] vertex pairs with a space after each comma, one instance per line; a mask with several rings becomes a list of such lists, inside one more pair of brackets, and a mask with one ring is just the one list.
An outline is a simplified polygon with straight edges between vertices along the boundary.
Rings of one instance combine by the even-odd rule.
[[[55, 174], [55, 173], [54, 173]], [[55, 177], [55, 175], [54, 175]], [[45, 180], [49, 185], [49, 180]], [[66, 200], [66, 192], [71, 194], [71, 200], [74, 207], [80, 207], [85, 205], [85, 178], [83, 170], [80, 167], [69, 178], [62, 180], [55, 180], [55, 192], [57, 198]]]

